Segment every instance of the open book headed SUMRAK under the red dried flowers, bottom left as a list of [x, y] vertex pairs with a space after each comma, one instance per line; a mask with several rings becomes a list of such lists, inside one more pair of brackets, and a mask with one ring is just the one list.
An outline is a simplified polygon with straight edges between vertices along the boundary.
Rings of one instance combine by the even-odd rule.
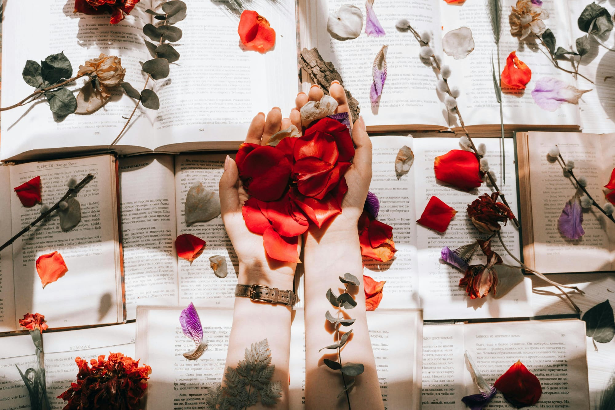
[[[66, 402], [57, 396], [77, 381], [79, 368], [75, 363], [77, 356], [87, 362], [100, 355], [108, 358], [109, 352], [123, 353], [135, 360], [135, 324], [116, 324], [101, 328], [79, 329], [74, 331], [44, 332], [45, 375], [47, 398], [52, 409], [64, 408]], [[28, 389], [15, 365], [22, 372], [36, 365], [36, 354], [29, 334], [22, 336], [0, 337], [0, 407], [2, 409], [29, 409]], [[141, 360], [141, 364], [148, 364]]]

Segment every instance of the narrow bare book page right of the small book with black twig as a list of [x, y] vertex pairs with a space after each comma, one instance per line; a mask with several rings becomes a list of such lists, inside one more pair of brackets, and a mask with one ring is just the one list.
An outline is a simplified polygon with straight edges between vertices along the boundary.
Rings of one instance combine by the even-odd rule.
[[119, 160], [127, 320], [137, 305], [178, 301], [172, 156]]

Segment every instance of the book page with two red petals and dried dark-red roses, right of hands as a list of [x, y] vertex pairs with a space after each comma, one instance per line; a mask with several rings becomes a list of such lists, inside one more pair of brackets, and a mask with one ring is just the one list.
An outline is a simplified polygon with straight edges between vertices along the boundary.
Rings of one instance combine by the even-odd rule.
[[[496, 172], [498, 186], [506, 194], [506, 200], [511, 211], [518, 215], [513, 140], [506, 139], [506, 185], [502, 185], [499, 172], [501, 164], [499, 144], [501, 140], [498, 138], [475, 138], [473, 141], [477, 146], [480, 143], [486, 145], [485, 158], [488, 159], [491, 169]], [[470, 299], [464, 287], [459, 286], [459, 280], [463, 277], [463, 273], [440, 262], [440, 251], [444, 246], [448, 246], [452, 250], [472, 243], [476, 239], [486, 239], [487, 236], [480, 233], [472, 225], [467, 215], [467, 206], [478, 196], [491, 193], [492, 189], [487, 187], [486, 183], [483, 183], [481, 187], [466, 192], [435, 179], [435, 157], [444, 155], [450, 150], [458, 150], [458, 142], [457, 138], [427, 137], [414, 139], [415, 163], [413, 167], [415, 168], [415, 175], [417, 175], [414, 196], [416, 219], [421, 217], [432, 196], [437, 196], [457, 211], [445, 233], [439, 233], [420, 224], [416, 225], [418, 271], [420, 273], [419, 289], [421, 301], [425, 308], [424, 318], [426, 320], [438, 320], [532, 316], [528, 303], [528, 297], [531, 293], [528, 292], [527, 288], [529, 283], [517, 284], [506, 295], [498, 295], [496, 288], [496, 297], [490, 294], [482, 299]], [[519, 232], [512, 221], [509, 221], [506, 226], [502, 226], [501, 235], [506, 247], [518, 258], [520, 254]], [[491, 249], [498, 252], [504, 263], [518, 266], [518, 263], [504, 251], [498, 238], [494, 238], [491, 243]], [[469, 263], [470, 265], [485, 263], [485, 255], [479, 249]], [[496, 270], [504, 271], [503, 267], [496, 267]]]

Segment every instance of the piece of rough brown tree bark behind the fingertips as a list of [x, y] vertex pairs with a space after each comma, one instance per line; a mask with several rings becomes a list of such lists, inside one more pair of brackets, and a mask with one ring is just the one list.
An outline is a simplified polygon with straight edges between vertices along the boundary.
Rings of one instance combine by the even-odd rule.
[[[318, 84], [320, 88], [322, 88], [325, 94], [329, 94], [329, 86], [331, 85], [331, 81], [337, 80], [339, 81], [339, 84], [344, 87], [344, 81], [339, 75], [338, 70], [335, 70], [335, 65], [331, 62], [323, 60], [316, 47], [311, 50], [301, 50], [300, 63], [301, 68], [309, 74], [314, 84]], [[346, 98], [348, 100], [348, 107], [350, 107], [350, 112], [352, 114], [352, 120], [356, 121], [361, 112], [359, 102], [356, 98], [352, 97], [352, 94], [346, 87], [344, 87], [344, 90], [346, 90]]]

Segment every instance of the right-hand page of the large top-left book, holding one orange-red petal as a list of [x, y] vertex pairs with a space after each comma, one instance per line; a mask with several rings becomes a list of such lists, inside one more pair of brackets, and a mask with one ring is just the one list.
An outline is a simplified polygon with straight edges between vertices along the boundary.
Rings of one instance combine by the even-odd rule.
[[[177, 24], [183, 31], [177, 47], [180, 60], [171, 65], [169, 79], [156, 84], [161, 108], [156, 111], [154, 138], [159, 149], [204, 141], [239, 145], [259, 111], [280, 107], [288, 116], [299, 90], [295, 1], [258, 3], [256, 11], [276, 31], [275, 47], [264, 54], [240, 44], [240, 12], [232, 11], [239, 2], [186, 4], [186, 18]], [[212, 149], [202, 144], [199, 148]]]

